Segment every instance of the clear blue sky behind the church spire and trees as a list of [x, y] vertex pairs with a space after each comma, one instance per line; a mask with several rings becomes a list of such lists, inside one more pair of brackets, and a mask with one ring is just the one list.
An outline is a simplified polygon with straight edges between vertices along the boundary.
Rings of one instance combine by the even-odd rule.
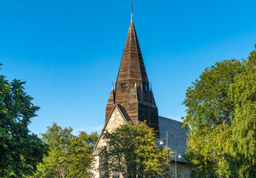
[[[0, 0], [1, 74], [26, 81], [41, 109], [30, 130], [57, 122], [100, 131], [118, 75], [131, 1]], [[246, 59], [256, 1], [135, 0], [133, 19], [159, 115], [185, 116], [185, 91], [205, 67]]]

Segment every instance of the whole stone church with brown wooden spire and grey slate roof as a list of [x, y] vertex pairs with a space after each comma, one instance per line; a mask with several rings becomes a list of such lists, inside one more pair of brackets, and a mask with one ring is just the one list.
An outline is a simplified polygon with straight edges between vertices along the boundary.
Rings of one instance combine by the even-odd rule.
[[118, 78], [115, 88], [112, 87], [106, 105], [105, 125], [92, 152], [95, 156], [95, 177], [100, 177], [97, 168], [100, 165], [100, 154], [105, 145], [102, 139], [104, 131], [111, 132], [124, 123], [132, 122], [136, 125], [138, 121], [144, 122], [144, 120], [150, 128], [159, 133], [159, 140], [163, 141], [161, 146], [167, 144], [168, 148], [175, 151], [170, 164], [170, 177], [189, 177], [191, 168], [186, 166], [182, 157], [187, 149], [187, 131], [182, 128], [182, 122], [159, 116], [131, 16]]

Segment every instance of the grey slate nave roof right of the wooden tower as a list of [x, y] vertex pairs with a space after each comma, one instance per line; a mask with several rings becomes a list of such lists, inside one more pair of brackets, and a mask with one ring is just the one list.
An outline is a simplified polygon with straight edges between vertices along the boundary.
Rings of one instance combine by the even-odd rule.
[[[177, 151], [177, 162], [185, 162], [184, 156], [182, 156], [181, 159], [178, 158], [178, 155], [181, 154], [183, 155], [185, 151], [187, 150], [187, 131], [185, 128], [182, 128], [183, 123], [173, 120], [173, 119], [168, 119], [163, 116], [159, 116], [159, 136], [160, 139], [164, 139], [163, 145], [160, 146], [165, 146], [166, 145], [166, 131], [168, 131], [168, 147], [173, 150], [173, 152]], [[174, 154], [173, 154], [174, 155]], [[175, 159], [173, 159], [175, 160]]]

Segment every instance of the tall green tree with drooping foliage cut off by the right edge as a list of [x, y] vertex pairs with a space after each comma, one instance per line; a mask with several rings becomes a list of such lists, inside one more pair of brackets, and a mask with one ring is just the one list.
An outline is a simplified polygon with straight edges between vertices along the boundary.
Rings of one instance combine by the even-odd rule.
[[[256, 47], [256, 45], [255, 45]], [[228, 132], [226, 159], [233, 177], [256, 177], [256, 51], [231, 85], [234, 98], [234, 124]]]

